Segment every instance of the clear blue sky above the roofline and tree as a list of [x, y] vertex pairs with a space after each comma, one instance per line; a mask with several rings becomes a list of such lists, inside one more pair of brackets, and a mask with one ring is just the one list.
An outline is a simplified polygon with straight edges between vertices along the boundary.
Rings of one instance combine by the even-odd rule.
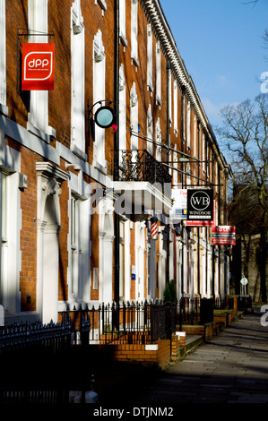
[[268, 72], [268, 0], [248, 1], [160, 0], [212, 127], [220, 108], [255, 99]]

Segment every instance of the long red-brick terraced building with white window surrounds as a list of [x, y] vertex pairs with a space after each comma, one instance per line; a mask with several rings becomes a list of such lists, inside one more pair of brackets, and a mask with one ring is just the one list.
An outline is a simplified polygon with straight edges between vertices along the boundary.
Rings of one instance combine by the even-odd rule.
[[[159, 0], [0, 0], [4, 321], [229, 293], [231, 170]], [[178, 203], [212, 192], [212, 220]], [[185, 199], [186, 200], [186, 199]]]

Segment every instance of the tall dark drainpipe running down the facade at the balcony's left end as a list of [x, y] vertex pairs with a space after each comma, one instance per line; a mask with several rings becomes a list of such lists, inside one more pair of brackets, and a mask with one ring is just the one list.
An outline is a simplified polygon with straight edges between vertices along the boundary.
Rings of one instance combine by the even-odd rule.
[[[119, 0], [115, 0], [115, 83], [114, 99], [117, 132], [114, 133], [114, 167], [119, 164]], [[118, 171], [114, 171], [114, 179], [118, 179]], [[115, 209], [115, 302], [119, 303], [119, 277], [120, 277], [120, 257], [119, 257], [119, 214]]]

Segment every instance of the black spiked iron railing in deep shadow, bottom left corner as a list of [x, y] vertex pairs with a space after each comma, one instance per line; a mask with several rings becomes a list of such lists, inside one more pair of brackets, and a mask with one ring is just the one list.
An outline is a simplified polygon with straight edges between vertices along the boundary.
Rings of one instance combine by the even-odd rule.
[[70, 349], [69, 322], [1, 326], [0, 404], [67, 403], [65, 366]]

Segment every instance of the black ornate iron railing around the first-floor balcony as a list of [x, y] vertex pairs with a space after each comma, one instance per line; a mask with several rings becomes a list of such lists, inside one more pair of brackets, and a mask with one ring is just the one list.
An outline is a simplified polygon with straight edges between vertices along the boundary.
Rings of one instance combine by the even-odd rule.
[[151, 185], [171, 188], [171, 175], [147, 150], [119, 150], [119, 164], [114, 174], [119, 181], [147, 181]]

